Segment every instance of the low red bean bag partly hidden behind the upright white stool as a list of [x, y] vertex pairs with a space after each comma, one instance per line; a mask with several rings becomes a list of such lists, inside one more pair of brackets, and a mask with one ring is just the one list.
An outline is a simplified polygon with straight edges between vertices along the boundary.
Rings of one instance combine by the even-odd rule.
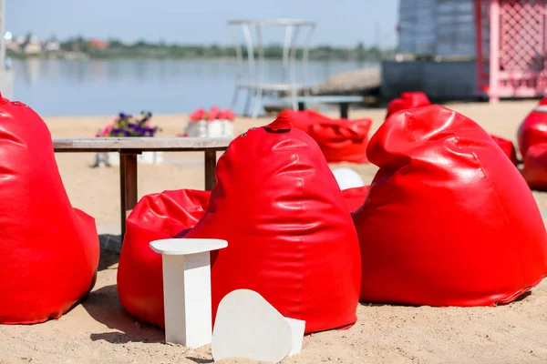
[[183, 189], [142, 197], [129, 214], [118, 267], [118, 294], [130, 314], [165, 327], [161, 256], [150, 241], [183, 237], [203, 217], [210, 191]]

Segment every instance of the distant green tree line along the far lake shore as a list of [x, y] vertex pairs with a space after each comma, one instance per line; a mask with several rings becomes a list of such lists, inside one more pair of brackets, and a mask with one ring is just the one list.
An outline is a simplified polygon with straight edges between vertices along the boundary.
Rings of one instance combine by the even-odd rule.
[[[242, 45], [243, 56], [247, 56], [247, 49]], [[93, 44], [92, 41], [82, 36], [67, 39], [60, 42], [60, 50], [54, 54], [33, 56], [67, 56], [69, 53], [81, 54], [90, 58], [234, 58], [236, 56], [234, 46], [225, 45], [167, 45], [165, 42], [150, 43], [140, 40], [133, 44], [126, 44], [118, 39], [109, 39], [104, 46]], [[296, 50], [296, 57], [303, 56], [304, 49]], [[376, 46], [366, 47], [359, 43], [355, 47], [336, 47], [320, 45], [310, 48], [311, 60], [347, 60], [347, 61], [379, 61], [391, 58], [395, 55], [393, 49], [380, 50]], [[8, 56], [25, 57], [23, 53], [8, 53]], [[255, 50], [255, 56], [258, 51]], [[283, 57], [282, 45], [267, 45], [263, 47], [263, 56], [267, 59], [279, 59]]]

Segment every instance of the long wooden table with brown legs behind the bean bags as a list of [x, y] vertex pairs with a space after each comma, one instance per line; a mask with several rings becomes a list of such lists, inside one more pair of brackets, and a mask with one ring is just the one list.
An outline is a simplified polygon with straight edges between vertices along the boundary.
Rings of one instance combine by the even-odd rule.
[[205, 189], [215, 184], [216, 152], [226, 150], [231, 138], [201, 137], [90, 137], [53, 139], [56, 153], [119, 152], [119, 194], [121, 237], [126, 229], [127, 211], [138, 202], [137, 155], [142, 152], [199, 152], [205, 154]]

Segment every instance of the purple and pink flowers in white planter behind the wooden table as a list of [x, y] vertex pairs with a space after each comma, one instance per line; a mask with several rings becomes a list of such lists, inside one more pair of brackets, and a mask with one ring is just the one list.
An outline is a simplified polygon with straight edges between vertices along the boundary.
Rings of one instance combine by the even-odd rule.
[[[112, 122], [99, 130], [97, 137], [153, 137], [160, 130], [158, 126], [150, 126], [152, 113], [141, 111], [138, 116], [131, 116], [119, 113]], [[140, 163], [161, 163], [163, 160], [161, 152], [143, 152], [139, 155]], [[119, 165], [119, 154], [117, 152], [97, 153], [95, 155], [94, 167], [101, 165]]]

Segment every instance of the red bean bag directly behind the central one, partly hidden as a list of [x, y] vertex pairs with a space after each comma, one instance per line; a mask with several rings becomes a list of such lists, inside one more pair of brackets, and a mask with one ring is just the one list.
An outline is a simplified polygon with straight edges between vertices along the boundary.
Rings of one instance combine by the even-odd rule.
[[312, 136], [328, 163], [366, 163], [366, 145], [372, 119], [331, 119], [313, 110], [284, 110], [294, 127]]

